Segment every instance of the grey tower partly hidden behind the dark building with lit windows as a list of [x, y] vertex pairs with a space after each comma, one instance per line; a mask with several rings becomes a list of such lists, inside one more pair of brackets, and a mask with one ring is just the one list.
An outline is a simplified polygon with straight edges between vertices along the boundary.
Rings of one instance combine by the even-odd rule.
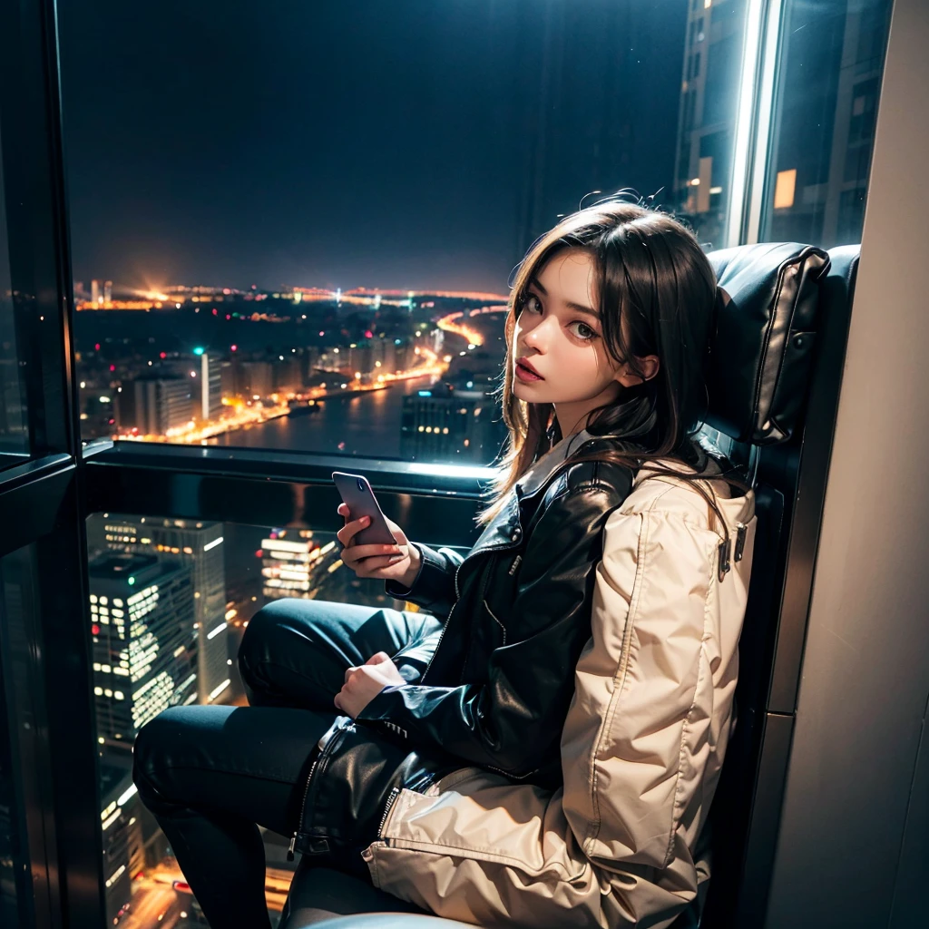
[[97, 513], [87, 519], [87, 543], [92, 553], [137, 553], [190, 569], [193, 611], [185, 635], [195, 656], [197, 700], [217, 700], [229, 687], [223, 524]]

